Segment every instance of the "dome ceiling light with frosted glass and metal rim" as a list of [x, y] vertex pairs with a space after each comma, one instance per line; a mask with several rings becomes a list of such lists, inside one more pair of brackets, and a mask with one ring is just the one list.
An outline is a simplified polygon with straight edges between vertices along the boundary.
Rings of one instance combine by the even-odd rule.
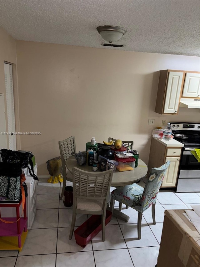
[[118, 26], [99, 26], [97, 30], [101, 37], [109, 43], [118, 41], [127, 32], [125, 28]]

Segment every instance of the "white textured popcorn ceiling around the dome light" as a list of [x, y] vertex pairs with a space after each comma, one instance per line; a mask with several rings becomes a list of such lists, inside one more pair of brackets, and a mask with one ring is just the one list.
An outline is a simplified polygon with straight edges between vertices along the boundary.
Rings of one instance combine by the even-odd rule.
[[[199, 10], [196, 0], [1, 0], [0, 25], [16, 40], [199, 56]], [[115, 42], [125, 46], [101, 46], [101, 25], [126, 28]]]

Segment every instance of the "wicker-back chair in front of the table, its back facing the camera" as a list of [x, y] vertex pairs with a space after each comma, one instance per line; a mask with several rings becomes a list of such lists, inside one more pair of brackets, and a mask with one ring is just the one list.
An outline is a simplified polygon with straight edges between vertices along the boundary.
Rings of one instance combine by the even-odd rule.
[[102, 215], [102, 240], [105, 241], [106, 208], [110, 198], [113, 170], [86, 172], [73, 168], [73, 215], [69, 239], [72, 239], [76, 214]]

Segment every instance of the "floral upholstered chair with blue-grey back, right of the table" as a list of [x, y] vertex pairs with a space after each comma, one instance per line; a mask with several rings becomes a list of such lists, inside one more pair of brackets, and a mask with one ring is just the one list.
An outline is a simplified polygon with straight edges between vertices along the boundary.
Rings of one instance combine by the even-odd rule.
[[141, 222], [143, 212], [152, 206], [153, 223], [155, 220], [155, 205], [158, 191], [165, 177], [170, 161], [166, 162], [159, 168], [152, 168], [145, 187], [139, 186], [137, 183], [118, 187], [111, 192], [110, 209], [113, 212], [115, 200], [124, 203], [138, 211], [138, 239], [141, 239]]

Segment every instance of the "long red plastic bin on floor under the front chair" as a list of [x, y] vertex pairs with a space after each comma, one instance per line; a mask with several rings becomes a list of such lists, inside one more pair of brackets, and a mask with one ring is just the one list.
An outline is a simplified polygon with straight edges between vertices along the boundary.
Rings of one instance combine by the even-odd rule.
[[[110, 222], [112, 212], [106, 211], [106, 225]], [[76, 243], [85, 247], [102, 230], [101, 215], [92, 215], [74, 231]]]

